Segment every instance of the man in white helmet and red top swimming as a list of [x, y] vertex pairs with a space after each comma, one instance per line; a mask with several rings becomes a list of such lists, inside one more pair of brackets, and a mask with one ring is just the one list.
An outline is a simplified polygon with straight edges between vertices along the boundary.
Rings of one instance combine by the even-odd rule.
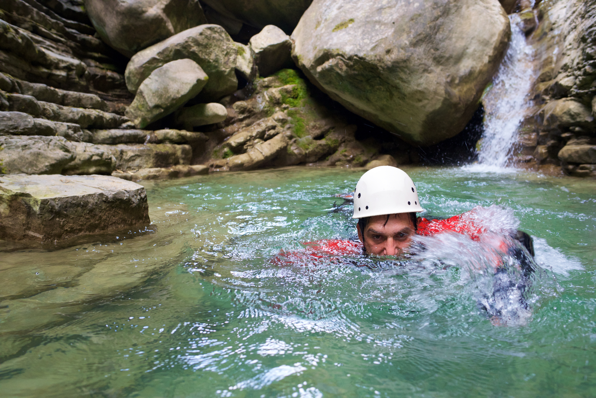
[[[345, 197], [344, 197], [345, 198]], [[345, 198], [347, 199], [347, 198]], [[518, 258], [524, 274], [532, 271], [530, 261], [525, 256], [518, 240], [533, 256], [532, 238], [524, 232], [517, 231], [512, 236], [501, 236], [495, 239], [486, 223], [479, 220], [478, 209], [472, 209], [446, 220], [427, 220], [417, 217], [423, 211], [418, 198], [418, 191], [412, 179], [403, 170], [392, 166], [379, 166], [365, 172], [356, 184], [353, 193], [353, 216], [358, 223], [358, 239], [322, 239], [305, 243], [305, 252], [280, 252], [281, 257], [315, 258], [329, 256], [367, 255], [399, 256], [409, 252], [415, 236], [432, 236], [441, 232], [455, 232], [467, 235], [479, 241], [487, 233], [491, 239], [487, 245], [497, 252], [514, 255]], [[278, 264], [291, 264], [295, 261], [284, 261], [280, 256], [275, 260]], [[493, 261], [495, 270], [502, 264], [498, 258]]]

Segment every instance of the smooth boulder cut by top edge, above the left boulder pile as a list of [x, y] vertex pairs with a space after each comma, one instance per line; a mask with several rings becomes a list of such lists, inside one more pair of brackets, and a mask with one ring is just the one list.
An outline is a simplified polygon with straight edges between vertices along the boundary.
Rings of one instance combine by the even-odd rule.
[[207, 22], [198, 0], [85, 0], [85, 9], [101, 39], [129, 58]]

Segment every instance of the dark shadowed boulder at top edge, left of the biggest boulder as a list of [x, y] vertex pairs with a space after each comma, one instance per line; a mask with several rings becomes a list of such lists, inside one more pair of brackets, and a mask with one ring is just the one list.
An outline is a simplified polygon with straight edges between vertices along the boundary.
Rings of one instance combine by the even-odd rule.
[[237, 35], [243, 24], [257, 29], [267, 25], [281, 27], [288, 35], [306, 11], [312, 0], [204, 0], [209, 23], [225, 27]]

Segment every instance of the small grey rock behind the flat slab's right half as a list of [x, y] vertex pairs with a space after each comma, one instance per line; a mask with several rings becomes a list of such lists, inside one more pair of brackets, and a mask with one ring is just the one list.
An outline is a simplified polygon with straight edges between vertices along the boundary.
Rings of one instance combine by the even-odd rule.
[[116, 158], [105, 145], [73, 143], [76, 159], [64, 166], [62, 174], [111, 174], [116, 169]]

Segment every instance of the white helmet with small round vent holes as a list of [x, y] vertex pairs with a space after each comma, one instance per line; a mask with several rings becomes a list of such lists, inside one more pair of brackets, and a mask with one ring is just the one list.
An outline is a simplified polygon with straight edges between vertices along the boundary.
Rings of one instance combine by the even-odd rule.
[[418, 191], [402, 169], [378, 166], [365, 172], [354, 192], [352, 218], [424, 211]]

